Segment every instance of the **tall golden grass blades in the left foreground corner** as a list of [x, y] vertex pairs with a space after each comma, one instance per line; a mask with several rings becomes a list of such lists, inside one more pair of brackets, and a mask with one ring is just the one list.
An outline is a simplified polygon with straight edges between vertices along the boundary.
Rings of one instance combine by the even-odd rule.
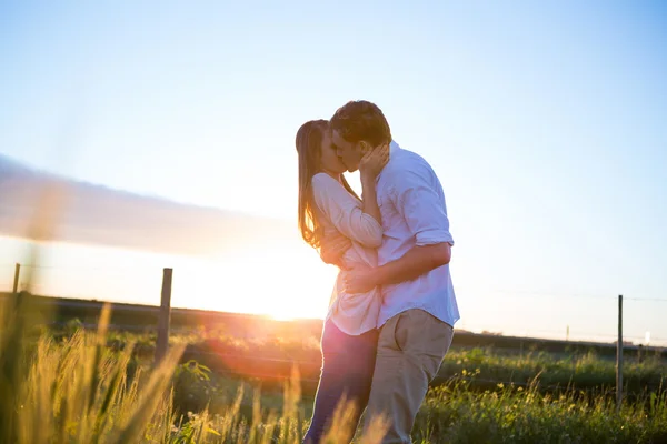
[[[173, 422], [168, 390], [183, 347], [173, 347], [148, 374], [128, 375], [132, 346], [112, 354], [106, 346], [109, 309], [97, 334], [77, 331], [62, 344], [42, 335], [23, 341], [27, 320], [4, 307], [1, 331], [2, 442], [165, 442]], [[13, 310], [12, 310], [13, 309]], [[131, 377], [131, 379], [130, 379]]]

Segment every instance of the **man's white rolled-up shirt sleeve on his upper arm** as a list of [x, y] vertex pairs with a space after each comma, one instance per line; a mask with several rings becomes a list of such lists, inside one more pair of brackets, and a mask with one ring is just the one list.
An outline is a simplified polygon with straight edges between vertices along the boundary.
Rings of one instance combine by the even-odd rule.
[[435, 172], [428, 168], [404, 170], [391, 182], [394, 204], [415, 235], [416, 244], [454, 245], [445, 194]]

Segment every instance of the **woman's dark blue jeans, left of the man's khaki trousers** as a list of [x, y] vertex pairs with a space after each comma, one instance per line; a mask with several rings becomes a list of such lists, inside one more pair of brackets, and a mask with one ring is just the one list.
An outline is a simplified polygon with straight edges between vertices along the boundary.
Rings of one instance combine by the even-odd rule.
[[331, 320], [325, 323], [321, 340], [322, 370], [312, 420], [303, 443], [319, 444], [344, 396], [346, 401], [356, 403], [354, 423], [359, 423], [370, 394], [378, 332], [374, 329], [352, 336], [341, 332]]

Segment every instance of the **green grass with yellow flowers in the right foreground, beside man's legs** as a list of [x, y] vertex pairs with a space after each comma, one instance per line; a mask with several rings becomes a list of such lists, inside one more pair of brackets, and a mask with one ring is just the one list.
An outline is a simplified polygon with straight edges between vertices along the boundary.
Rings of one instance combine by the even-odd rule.
[[665, 443], [665, 392], [626, 403], [568, 391], [558, 396], [502, 386], [484, 393], [459, 381], [434, 389], [419, 412], [414, 438], [425, 443]]

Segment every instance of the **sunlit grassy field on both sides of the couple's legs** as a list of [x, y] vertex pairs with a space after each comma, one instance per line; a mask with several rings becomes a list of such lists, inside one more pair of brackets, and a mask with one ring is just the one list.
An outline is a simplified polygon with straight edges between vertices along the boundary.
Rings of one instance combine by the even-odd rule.
[[[60, 332], [29, 329], [29, 317], [3, 310], [0, 336], [1, 442], [11, 443], [299, 443], [308, 425], [311, 393], [290, 366], [280, 390], [261, 379], [230, 377], [201, 349], [233, 355], [313, 356], [317, 341], [252, 342], [225, 336], [176, 335], [170, 354], [151, 366], [151, 334], [99, 332], [72, 322]], [[222, 344], [222, 345], [221, 345]], [[225, 347], [226, 349], [225, 349]], [[208, 355], [208, 356], [213, 356]], [[201, 355], [200, 355], [201, 357]], [[270, 373], [270, 366], [263, 366]], [[418, 443], [665, 443], [665, 364], [656, 356], [626, 363], [637, 381], [634, 396], [616, 411], [607, 384], [614, 363], [595, 354], [557, 359], [539, 351], [506, 354], [492, 349], [454, 349], [417, 417]], [[515, 383], [479, 381], [511, 380]], [[645, 384], [640, 381], [650, 381]], [[583, 390], [588, 382], [597, 390]], [[653, 386], [653, 384], [657, 386]], [[550, 385], [561, 390], [544, 390]], [[568, 385], [569, 384], [569, 385]], [[644, 384], [644, 385], [643, 385]], [[346, 410], [329, 442], [351, 433]], [[358, 442], [379, 442], [377, 422]]]

